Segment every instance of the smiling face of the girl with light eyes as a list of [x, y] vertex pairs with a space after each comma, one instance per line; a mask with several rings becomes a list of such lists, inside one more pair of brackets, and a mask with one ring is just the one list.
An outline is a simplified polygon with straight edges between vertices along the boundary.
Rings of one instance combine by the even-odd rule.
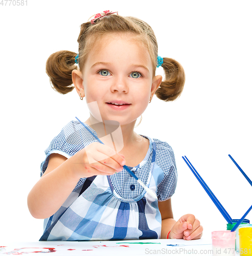
[[103, 36], [89, 51], [82, 71], [86, 102], [97, 101], [102, 120], [131, 123], [145, 111], [162, 80], [152, 73], [150, 54], [134, 36]]

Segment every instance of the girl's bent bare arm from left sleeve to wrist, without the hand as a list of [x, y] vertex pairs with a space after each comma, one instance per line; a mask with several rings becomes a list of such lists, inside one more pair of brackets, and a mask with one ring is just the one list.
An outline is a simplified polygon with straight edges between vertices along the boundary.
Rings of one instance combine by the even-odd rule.
[[79, 179], [72, 174], [71, 160], [50, 155], [47, 169], [28, 195], [28, 208], [34, 218], [52, 216], [75, 188]]

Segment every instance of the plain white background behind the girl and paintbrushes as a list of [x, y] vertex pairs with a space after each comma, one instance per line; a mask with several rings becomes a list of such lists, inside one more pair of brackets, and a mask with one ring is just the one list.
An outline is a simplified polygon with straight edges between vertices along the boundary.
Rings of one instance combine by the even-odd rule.
[[[4, 2], [5, 5], [6, 2]], [[181, 156], [186, 155], [233, 219], [252, 203], [251, 1], [32, 1], [0, 5], [1, 169], [0, 242], [38, 241], [27, 195], [40, 177], [44, 150], [70, 120], [88, 118], [76, 91], [55, 92], [45, 61], [56, 51], [78, 52], [80, 25], [98, 12], [136, 16], [153, 28], [158, 53], [181, 63], [186, 84], [174, 102], [153, 98], [135, 129], [167, 141], [175, 152], [178, 184], [174, 218], [194, 214], [211, 231], [226, 221]], [[163, 75], [162, 68], [157, 74]], [[137, 121], [138, 123], [138, 121]], [[252, 212], [247, 216], [252, 221]]]

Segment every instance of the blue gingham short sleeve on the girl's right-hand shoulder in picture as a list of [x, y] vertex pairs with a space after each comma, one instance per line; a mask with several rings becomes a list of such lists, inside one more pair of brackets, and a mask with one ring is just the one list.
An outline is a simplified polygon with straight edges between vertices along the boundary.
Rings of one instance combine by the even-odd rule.
[[164, 179], [157, 186], [158, 201], [166, 201], [175, 193], [177, 167], [172, 147], [165, 141], [154, 139], [156, 143], [156, 164], [163, 170]]

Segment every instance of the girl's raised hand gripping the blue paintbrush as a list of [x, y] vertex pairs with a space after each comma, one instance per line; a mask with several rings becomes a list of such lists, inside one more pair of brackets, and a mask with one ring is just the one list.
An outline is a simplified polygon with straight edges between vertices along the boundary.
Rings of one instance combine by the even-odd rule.
[[70, 159], [73, 163], [73, 175], [78, 179], [95, 175], [112, 175], [121, 172], [126, 163], [124, 155], [98, 142], [84, 147]]

